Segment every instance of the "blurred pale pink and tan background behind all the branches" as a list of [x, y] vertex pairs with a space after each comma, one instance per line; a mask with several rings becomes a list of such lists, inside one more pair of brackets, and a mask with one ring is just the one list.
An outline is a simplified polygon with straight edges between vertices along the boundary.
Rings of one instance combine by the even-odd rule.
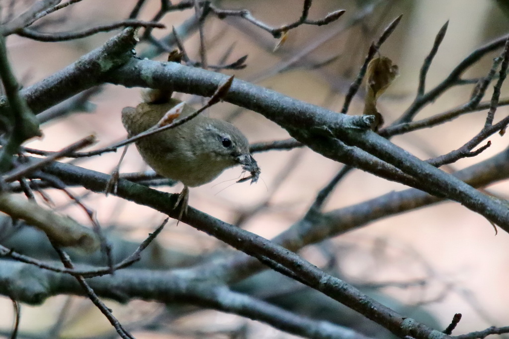
[[[0, 2], [3, 9], [9, 3], [8, 0]], [[15, 9], [21, 11], [30, 3], [17, 1]], [[122, 20], [128, 17], [135, 3], [130, 0], [84, 0], [48, 16], [40, 29], [64, 32]], [[232, 0], [214, 4], [225, 9], [248, 9], [254, 17], [273, 26], [296, 20], [302, 11], [302, 0]], [[159, 7], [159, 1], [149, 0], [139, 17], [150, 20]], [[476, 47], [509, 31], [507, 16], [496, 1], [315, 0], [310, 9], [310, 18], [323, 18], [338, 9], [347, 10], [339, 20], [325, 26], [302, 25], [291, 30], [286, 43], [276, 51], [273, 50], [278, 41], [264, 30], [239, 18], [219, 20], [210, 16], [205, 25], [208, 62], [219, 64], [231, 48], [226, 63], [247, 54], [247, 67], [224, 73], [235, 74], [237, 78], [293, 98], [340, 111], [345, 93], [369, 45], [389, 22], [403, 14], [402, 22], [380, 50], [382, 55], [390, 57], [399, 66], [400, 73], [378, 102], [378, 109], [384, 115], [386, 124], [390, 124], [415, 98], [422, 61], [429, 53], [438, 30], [447, 20], [448, 30], [429, 71], [427, 88], [442, 81]], [[162, 38], [171, 33], [172, 26], [180, 29], [193, 16], [192, 10], [168, 13], [161, 20], [166, 29], [156, 29], [153, 34], [156, 38]], [[18, 80], [24, 86], [29, 86], [73, 63], [112, 35], [114, 33], [100, 33], [61, 43], [42, 43], [11, 36], [7, 40], [9, 57]], [[183, 29], [181, 38], [189, 57], [199, 60], [197, 31]], [[150, 54], [148, 44], [140, 44], [136, 50], [141, 55]], [[484, 57], [465, 74], [465, 78], [486, 75], [493, 57], [498, 53]], [[155, 56], [158, 60], [165, 58], [166, 54]], [[456, 86], [448, 90], [439, 100], [420, 111], [417, 119], [465, 103], [472, 87]], [[363, 93], [361, 89], [353, 100], [349, 114], [362, 113]], [[491, 93], [492, 86], [485, 100], [489, 100]], [[200, 103], [200, 99], [188, 95], [176, 96]], [[503, 87], [501, 97], [507, 97], [507, 86]], [[95, 147], [112, 144], [126, 136], [120, 120], [122, 108], [136, 106], [139, 102], [138, 88], [104, 85], [90, 97], [88, 112], [73, 112], [47, 122], [43, 125], [44, 137], [27, 146], [59, 150], [90, 134], [96, 134], [99, 139]], [[212, 107], [206, 114], [231, 120], [251, 143], [289, 137], [285, 130], [262, 115], [227, 103]], [[497, 110], [498, 118], [506, 114], [504, 107]], [[482, 129], [485, 118], [485, 111], [470, 113], [433, 129], [394, 137], [392, 141], [421, 159], [433, 158], [470, 140]], [[495, 155], [507, 146], [507, 136], [497, 134], [490, 140], [492, 146], [478, 157], [461, 160], [444, 170], [464, 168]], [[106, 153], [100, 157], [73, 160], [72, 163], [111, 173], [119, 157], [120, 152]], [[233, 168], [213, 182], [191, 189], [189, 204], [270, 239], [302, 218], [317, 192], [342, 166], [307, 148], [262, 152], [254, 155], [254, 158], [262, 169], [256, 185], [235, 183], [241, 170]], [[147, 166], [135, 147], [131, 146], [121, 172], [144, 170], [148, 170]], [[507, 198], [507, 187], [507, 183], [500, 182], [488, 191]], [[178, 184], [158, 189], [178, 193], [182, 187]], [[325, 210], [349, 206], [402, 189], [404, 187], [400, 184], [356, 170], [337, 186]], [[100, 224], [111, 232], [111, 236], [133, 243], [143, 240], [165, 218], [165, 215], [147, 207], [113, 196], [71, 190], [97, 212]], [[87, 216], [71, 204], [64, 194], [56, 191], [48, 193], [59, 212], [89, 224]], [[215, 238], [185, 224], [176, 227], [173, 220], [157, 240], [162, 253], [178, 258], [182, 256], [196, 260], [227, 250]], [[461, 334], [492, 325], [509, 325], [507, 243], [509, 235], [500, 231], [495, 236], [493, 227], [482, 216], [457, 203], [442, 203], [377, 221], [320, 245], [308, 246], [301, 254], [316, 265], [328, 265], [336, 275], [356, 284], [387, 306], [437, 329], [444, 329], [455, 313], [462, 313], [463, 319], [453, 333]], [[168, 262], [173, 259], [162, 260], [171, 266]], [[249, 290], [256, 295], [257, 291], [252, 286], [282, 286], [282, 283], [274, 283], [281, 279], [274, 274], [269, 276], [262, 273], [251, 279], [239, 285], [238, 289]], [[325, 314], [336, 312], [325, 306], [326, 301], [321, 310], [312, 309], [309, 305], [306, 310], [302, 304], [298, 305], [298, 301], [292, 300], [291, 292], [299, 291], [300, 287], [293, 288], [284, 291], [265, 289], [259, 295], [289, 307], [293, 303], [294, 310], [298, 310], [296, 312], [309, 316], [328, 317]], [[322, 297], [313, 294], [310, 298], [321, 300]], [[177, 313], [170, 315], [163, 305], [154, 303], [106, 303], [123, 323], [152, 324], [153, 330], [148, 329], [150, 326], [141, 325], [142, 329], [134, 330], [132, 333], [138, 338], [292, 337], [264, 324], [215, 311], [190, 310], [177, 316]], [[0, 307], [4, 315], [0, 317], [0, 329], [8, 335], [13, 319], [11, 301], [0, 299]], [[344, 324], [355, 328], [371, 326], [369, 321], [363, 321], [354, 314], [341, 318]], [[168, 322], [168, 319], [171, 321]], [[94, 323], [93, 327], [90, 326], [91, 322]], [[21, 330], [27, 337], [47, 337], [47, 333], [61, 337], [116, 337], [107, 320], [90, 300], [67, 296], [53, 297], [41, 306], [22, 305]], [[386, 335], [379, 329], [366, 331], [374, 337]]]

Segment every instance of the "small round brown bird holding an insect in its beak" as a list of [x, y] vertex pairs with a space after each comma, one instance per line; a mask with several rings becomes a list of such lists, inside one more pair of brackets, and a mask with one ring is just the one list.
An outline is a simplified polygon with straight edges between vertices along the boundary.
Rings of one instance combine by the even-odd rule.
[[[161, 100], [160, 93], [151, 91], [143, 95], [146, 102], [122, 110], [122, 124], [129, 137], [152, 128], [166, 112], [181, 103], [176, 99]], [[190, 105], [184, 104], [178, 118], [193, 112]], [[242, 132], [229, 122], [201, 114], [176, 128], [139, 139], [136, 147], [157, 174], [184, 184], [175, 206], [182, 203], [179, 219], [187, 208], [188, 187], [210, 182], [235, 165], [250, 172], [251, 182], [256, 182], [260, 174]]]

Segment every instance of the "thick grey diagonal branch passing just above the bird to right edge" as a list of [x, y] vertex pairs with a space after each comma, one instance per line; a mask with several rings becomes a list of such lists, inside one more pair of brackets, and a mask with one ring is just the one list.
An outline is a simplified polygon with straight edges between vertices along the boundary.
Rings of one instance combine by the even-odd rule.
[[[226, 79], [226, 76], [217, 73], [176, 63], [132, 59], [122, 68], [111, 72], [108, 81], [125, 86], [162, 86], [184, 93], [210, 96], [217, 84]], [[360, 167], [352, 152], [355, 149], [346, 145], [360, 148], [381, 159], [382, 163], [390, 164], [414, 177], [428, 187], [425, 189], [427, 192], [437, 195], [438, 191], [438, 195], [460, 202], [509, 232], [507, 206], [366, 130], [359, 116], [337, 114], [241, 80], [233, 82], [224, 100], [263, 114], [285, 128], [298, 141], [335, 161]], [[373, 167], [360, 168], [375, 172]], [[422, 185], [419, 189], [422, 189]]]

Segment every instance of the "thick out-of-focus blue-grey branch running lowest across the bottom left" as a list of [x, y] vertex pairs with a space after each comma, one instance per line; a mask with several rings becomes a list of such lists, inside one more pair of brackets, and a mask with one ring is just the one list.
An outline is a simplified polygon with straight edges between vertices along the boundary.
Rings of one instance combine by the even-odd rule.
[[[32, 304], [61, 293], [84, 295], [72, 276], [18, 262], [0, 261], [0, 280], [0, 291], [6, 291], [9, 286], [17, 300]], [[131, 299], [185, 302], [262, 321], [305, 337], [367, 338], [351, 329], [296, 315], [225, 286], [196, 283], [177, 272], [124, 269], [115, 275], [90, 279], [88, 285], [97, 296], [120, 302]]]

